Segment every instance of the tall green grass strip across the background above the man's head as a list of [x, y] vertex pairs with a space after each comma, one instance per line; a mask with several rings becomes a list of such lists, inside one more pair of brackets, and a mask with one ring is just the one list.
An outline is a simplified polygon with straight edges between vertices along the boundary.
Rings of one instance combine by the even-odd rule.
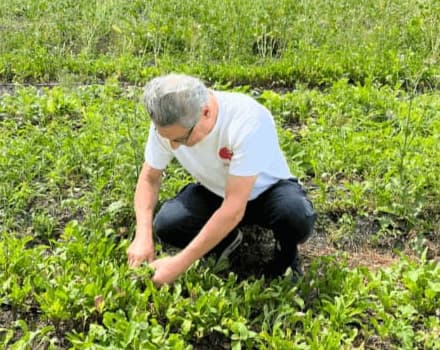
[[70, 1], [0, 4], [0, 80], [139, 83], [180, 70], [233, 84], [347, 78], [439, 84], [437, 1]]

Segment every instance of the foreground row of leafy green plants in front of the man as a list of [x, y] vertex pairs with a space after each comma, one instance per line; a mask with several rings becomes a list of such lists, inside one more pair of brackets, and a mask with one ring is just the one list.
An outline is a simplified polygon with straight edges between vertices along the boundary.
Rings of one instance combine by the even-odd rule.
[[207, 260], [156, 289], [148, 267], [127, 267], [128, 241], [76, 222], [51, 247], [1, 238], [0, 307], [14, 321], [0, 339], [11, 349], [438, 348], [440, 265], [424, 256], [377, 272], [317, 258], [297, 285], [239, 282]]

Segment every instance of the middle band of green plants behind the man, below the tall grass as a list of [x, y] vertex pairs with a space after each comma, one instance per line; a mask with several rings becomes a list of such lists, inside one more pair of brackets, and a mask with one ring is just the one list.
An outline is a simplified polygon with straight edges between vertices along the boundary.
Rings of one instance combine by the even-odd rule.
[[[111, 217], [117, 232], [131, 232], [148, 130], [140, 93], [109, 81], [77, 90], [21, 88], [2, 96], [5, 230], [50, 238], [69, 220], [94, 227]], [[339, 218], [336, 235], [353, 233], [357, 217], [373, 215], [376, 233], [438, 230], [438, 94], [353, 87], [342, 80], [325, 92], [264, 91], [256, 98], [273, 111], [291, 171], [306, 183], [318, 211]], [[189, 180], [175, 164], [161, 198]]]

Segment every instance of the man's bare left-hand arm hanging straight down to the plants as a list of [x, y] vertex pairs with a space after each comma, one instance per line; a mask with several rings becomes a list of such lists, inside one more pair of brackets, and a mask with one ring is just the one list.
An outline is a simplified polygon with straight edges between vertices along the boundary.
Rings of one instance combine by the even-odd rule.
[[136, 236], [127, 249], [128, 264], [139, 266], [143, 261], [154, 260], [153, 212], [162, 179], [162, 170], [147, 163], [142, 167], [134, 195]]

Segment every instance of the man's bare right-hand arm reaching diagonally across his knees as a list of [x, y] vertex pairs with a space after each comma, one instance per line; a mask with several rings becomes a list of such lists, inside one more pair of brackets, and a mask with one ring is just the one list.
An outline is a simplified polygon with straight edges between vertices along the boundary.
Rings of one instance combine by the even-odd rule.
[[214, 248], [241, 221], [257, 176], [228, 176], [225, 198], [200, 233], [177, 255], [155, 260], [153, 281], [171, 283], [191, 264]]

